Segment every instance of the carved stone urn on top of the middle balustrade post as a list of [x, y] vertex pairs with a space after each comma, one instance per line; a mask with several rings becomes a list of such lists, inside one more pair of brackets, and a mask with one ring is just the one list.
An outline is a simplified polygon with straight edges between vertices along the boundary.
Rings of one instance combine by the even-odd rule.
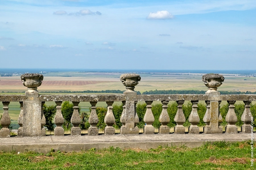
[[134, 91], [135, 85], [141, 81], [141, 76], [135, 73], [126, 73], [120, 76], [120, 80], [127, 90]]

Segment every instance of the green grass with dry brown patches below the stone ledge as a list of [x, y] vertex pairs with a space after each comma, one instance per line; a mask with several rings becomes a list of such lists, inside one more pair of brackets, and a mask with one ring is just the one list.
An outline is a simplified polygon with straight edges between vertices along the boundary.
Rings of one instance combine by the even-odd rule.
[[249, 142], [206, 143], [198, 148], [159, 146], [156, 149], [92, 148], [47, 154], [31, 151], [0, 152], [0, 170], [247, 170], [250, 169]]

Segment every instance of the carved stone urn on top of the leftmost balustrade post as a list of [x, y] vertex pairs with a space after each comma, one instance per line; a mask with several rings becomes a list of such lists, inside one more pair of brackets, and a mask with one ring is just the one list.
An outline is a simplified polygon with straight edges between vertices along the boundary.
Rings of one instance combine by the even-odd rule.
[[42, 84], [44, 76], [38, 73], [26, 73], [20, 76], [22, 84], [27, 87], [29, 93], [38, 92], [37, 87]]

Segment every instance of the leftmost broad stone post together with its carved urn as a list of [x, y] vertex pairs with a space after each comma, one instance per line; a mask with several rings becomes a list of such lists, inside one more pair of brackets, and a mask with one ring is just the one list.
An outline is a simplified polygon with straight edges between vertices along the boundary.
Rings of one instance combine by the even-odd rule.
[[23, 101], [23, 136], [41, 136], [42, 103], [37, 87], [42, 84], [43, 75], [27, 73], [20, 78], [27, 87]]

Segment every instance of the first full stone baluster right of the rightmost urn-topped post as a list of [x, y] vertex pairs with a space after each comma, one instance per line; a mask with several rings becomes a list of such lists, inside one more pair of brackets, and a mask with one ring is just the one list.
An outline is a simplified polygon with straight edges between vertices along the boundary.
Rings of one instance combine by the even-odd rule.
[[229, 111], [226, 115], [226, 122], [228, 123], [227, 128], [226, 128], [226, 133], [237, 133], [237, 127], [236, 127], [236, 122], [237, 122], [237, 117], [235, 113], [235, 103], [236, 101], [228, 101], [229, 103]]

